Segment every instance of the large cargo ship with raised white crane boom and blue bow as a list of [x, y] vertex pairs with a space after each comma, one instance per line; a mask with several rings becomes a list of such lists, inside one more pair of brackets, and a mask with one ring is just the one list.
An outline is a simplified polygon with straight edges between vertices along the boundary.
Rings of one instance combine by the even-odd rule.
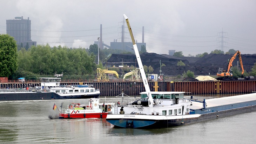
[[150, 92], [146, 74], [126, 15], [133, 49], [146, 92], [140, 100], [123, 106], [124, 114], [108, 114], [106, 120], [119, 128], [168, 128], [256, 110], [256, 93], [203, 101], [185, 99], [185, 92]]

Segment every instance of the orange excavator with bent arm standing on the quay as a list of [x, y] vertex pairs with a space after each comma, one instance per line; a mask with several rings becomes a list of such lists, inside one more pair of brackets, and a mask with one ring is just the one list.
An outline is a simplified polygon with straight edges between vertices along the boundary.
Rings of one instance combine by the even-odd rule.
[[242, 69], [242, 77], [244, 73], [242, 58], [241, 58], [241, 52], [239, 50], [236, 51], [236, 53], [228, 60], [228, 66], [227, 70], [223, 70], [222, 68], [219, 68], [217, 73], [217, 80], [237, 80], [237, 78], [233, 77], [233, 71], [231, 70], [232, 63], [236, 57], [239, 57], [241, 69]]

